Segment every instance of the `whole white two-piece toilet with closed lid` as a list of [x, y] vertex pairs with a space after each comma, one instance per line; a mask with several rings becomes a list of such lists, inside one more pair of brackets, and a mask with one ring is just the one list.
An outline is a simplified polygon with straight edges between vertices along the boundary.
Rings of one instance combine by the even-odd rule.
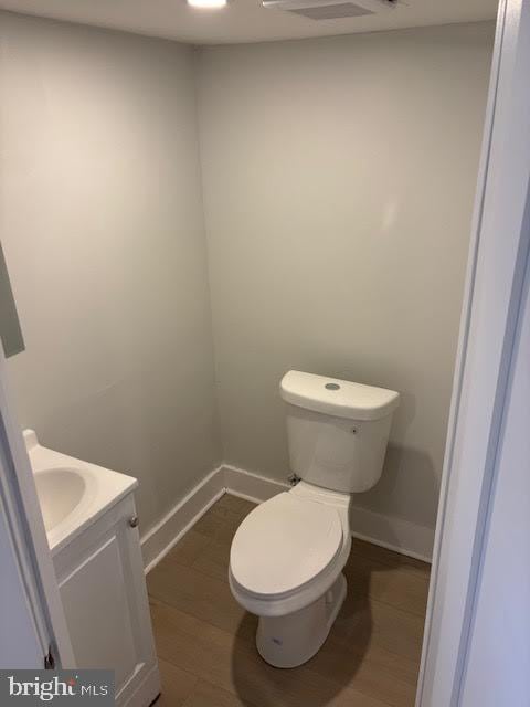
[[351, 494], [381, 476], [400, 395], [301, 371], [284, 376], [280, 394], [294, 485], [240, 525], [229, 580], [259, 618], [259, 655], [288, 668], [318, 652], [344, 601]]

